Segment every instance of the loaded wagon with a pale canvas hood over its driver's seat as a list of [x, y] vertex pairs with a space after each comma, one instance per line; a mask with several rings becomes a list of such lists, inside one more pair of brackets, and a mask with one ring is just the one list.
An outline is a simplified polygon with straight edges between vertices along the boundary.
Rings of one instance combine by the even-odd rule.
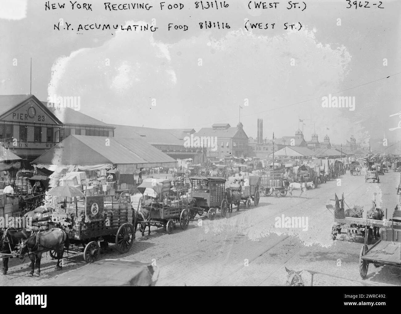
[[[134, 217], [134, 224], [140, 223], [143, 232], [146, 225], [166, 228], [168, 234], [172, 233], [177, 223], [181, 229], [189, 225], [189, 210], [182, 200], [171, 191], [171, 180], [146, 179], [138, 186], [143, 199], [138, 206]], [[137, 221], [138, 217], [142, 217]]]

